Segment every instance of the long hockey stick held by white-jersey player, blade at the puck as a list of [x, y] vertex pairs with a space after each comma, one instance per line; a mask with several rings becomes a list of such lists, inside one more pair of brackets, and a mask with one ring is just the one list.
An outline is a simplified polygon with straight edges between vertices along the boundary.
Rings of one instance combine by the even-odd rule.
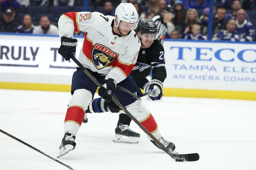
[[[71, 59], [79, 66], [79, 68], [81, 70], [84, 71], [84, 73], [89, 78], [92, 79], [92, 81], [96, 85], [98, 85], [99, 87], [102, 87], [100, 82], [95, 77], [93, 77], [92, 74], [88, 70], [86, 70], [84, 68], [84, 66], [74, 56], [72, 56]], [[169, 150], [162, 143], [160, 143], [159, 140], [156, 139], [156, 137], [154, 137], [124, 106], [122, 106], [122, 104], [113, 95], [111, 95], [111, 99], [114, 101], [114, 103], [120, 109], [122, 109], [124, 111], [124, 113], [126, 113], [126, 115], [128, 115], [140, 127], [140, 129], [142, 129], [151, 139], [153, 139], [154, 142], [156, 142], [156, 144], [158, 144], [164, 152], [166, 152], [169, 156], [171, 156], [172, 159], [174, 159], [175, 161], [179, 161], [179, 162], [197, 161], [199, 159], [199, 154], [198, 153], [175, 154], [175, 153], [169, 152]]]

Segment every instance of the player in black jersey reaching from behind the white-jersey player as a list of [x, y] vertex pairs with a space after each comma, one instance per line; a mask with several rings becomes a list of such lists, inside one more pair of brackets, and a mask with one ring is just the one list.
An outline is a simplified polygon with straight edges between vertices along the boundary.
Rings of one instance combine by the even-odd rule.
[[[151, 19], [142, 18], [137, 30], [135, 30], [141, 41], [141, 47], [138, 55], [137, 62], [130, 73], [136, 84], [145, 92], [155, 91], [154, 94], [149, 95], [152, 100], [159, 100], [163, 95], [163, 82], [166, 78], [166, 69], [164, 62], [164, 48], [159, 40], [156, 39], [157, 26]], [[152, 70], [152, 80], [149, 82], [146, 78]], [[129, 125], [132, 119], [124, 114], [116, 104], [106, 102], [102, 98], [92, 100], [88, 109], [85, 111], [83, 122], [88, 121], [86, 113], [102, 113], [102, 112], [119, 112], [119, 120], [115, 129], [116, 137], [113, 142], [118, 143], [138, 143], [140, 134], [132, 131]], [[130, 140], [123, 137], [129, 137]], [[151, 140], [158, 148], [160, 148], [154, 141]], [[160, 139], [160, 142], [166, 145], [166, 147], [172, 147], [172, 143], [164, 139]]]

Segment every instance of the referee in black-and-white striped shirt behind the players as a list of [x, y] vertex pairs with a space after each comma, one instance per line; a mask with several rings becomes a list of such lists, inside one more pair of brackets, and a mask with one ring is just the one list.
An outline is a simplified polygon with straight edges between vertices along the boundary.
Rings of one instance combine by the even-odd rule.
[[157, 39], [164, 45], [164, 38], [167, 32], [166, 23], [171, 21], [175, 16], [175, 9], [171, 5], [167, 5], [164, 11], [160, 15], [156, 15], [152, 18], [157, 26]]

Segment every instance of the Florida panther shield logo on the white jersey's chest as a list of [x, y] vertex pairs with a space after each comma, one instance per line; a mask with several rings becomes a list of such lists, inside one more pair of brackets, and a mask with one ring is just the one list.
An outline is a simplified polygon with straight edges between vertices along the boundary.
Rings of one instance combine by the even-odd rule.
[[98, 70], [108, 66], [117, 56], [117, 53], [100, 44], [95, 44], [92, 49], [92, 63]]

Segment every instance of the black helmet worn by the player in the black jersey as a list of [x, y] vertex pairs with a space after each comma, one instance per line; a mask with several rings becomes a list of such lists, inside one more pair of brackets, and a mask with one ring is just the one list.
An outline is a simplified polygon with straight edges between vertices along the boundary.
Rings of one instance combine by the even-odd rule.
[[138, 32], [140, 33], [157, 33], [157, 26], [152, 19], [142, 18], [138, 23]]

